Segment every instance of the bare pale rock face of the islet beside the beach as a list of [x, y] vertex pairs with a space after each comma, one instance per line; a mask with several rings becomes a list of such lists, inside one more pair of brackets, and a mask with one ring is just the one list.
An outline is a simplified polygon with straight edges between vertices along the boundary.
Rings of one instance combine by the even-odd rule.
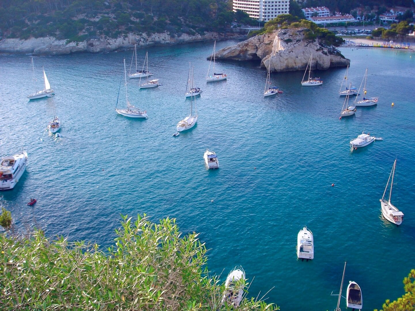
[[304, 37], [305, 29], [280, 29], [272, 33], [254, 36], [237, 45], [223, 48], [215, 54], [216, 59], [237, 61], [261, 60], [261, 66], [271, 66], [271, 71], [304, 70], [310, 55], [312, 69], [326, 70], [330, 67], [346, 67], [350, 60], [330, 54], [318, 40]]

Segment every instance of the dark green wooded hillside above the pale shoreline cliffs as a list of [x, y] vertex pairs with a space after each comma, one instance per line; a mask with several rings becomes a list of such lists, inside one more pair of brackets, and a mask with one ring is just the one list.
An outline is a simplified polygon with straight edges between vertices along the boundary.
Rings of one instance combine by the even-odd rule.
[[246, 17], [229, 10], [227, 0], [2, 0], [0, 39], [55, 36], [83, 41], [166, 31], [181, 36], [223, 32], [234, 19], [247, 22]]

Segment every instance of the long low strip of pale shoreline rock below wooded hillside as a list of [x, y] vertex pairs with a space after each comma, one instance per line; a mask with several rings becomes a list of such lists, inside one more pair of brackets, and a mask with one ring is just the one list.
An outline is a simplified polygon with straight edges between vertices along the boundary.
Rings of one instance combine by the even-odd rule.
[[[227, 35], [228, 37], [229, 35]], [[154, 45], [173, 45], [187, 42], [224, 39], [224, 35], [215, 32], [208, 32], [204, 35], [182, 34], [181, 36], [170, 36], [162, 34], [128, 34], [125, 37], [116, 39], [102, 37], [100, 39], [90, 39], [83, 42], [70, 42], [58, 40], [54, 37], [22, 39], [3, 39], [0, 40], [0, 53], [8, 54], [29, 54], [34, 55], [61, 55], [76, 52], [102, 53], [133, 49], [134, 44], [138, 47]]]

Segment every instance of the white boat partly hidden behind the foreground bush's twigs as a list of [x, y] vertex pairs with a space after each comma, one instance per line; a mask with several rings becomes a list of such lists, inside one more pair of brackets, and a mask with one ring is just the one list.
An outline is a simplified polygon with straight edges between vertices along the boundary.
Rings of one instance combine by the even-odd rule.
[[244, 287], [245, 271], [240, 266], [235, 267], [226, 278], [222, 304], [237, 308], [241, 304]]

